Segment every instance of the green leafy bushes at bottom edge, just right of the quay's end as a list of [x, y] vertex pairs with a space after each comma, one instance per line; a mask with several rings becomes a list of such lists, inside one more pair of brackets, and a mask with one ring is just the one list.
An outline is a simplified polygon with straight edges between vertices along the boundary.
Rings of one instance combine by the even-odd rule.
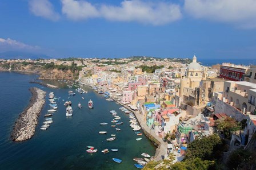
[[172, 164], [174, 156], [170, 155], [169, 160], [150, 161], [143, 169], [223, 169], [221, 164], [223, 151], [226, 151], [226, 145], [217, 134], [203, 136], [188, 144], [186, 155], [181, 162]]

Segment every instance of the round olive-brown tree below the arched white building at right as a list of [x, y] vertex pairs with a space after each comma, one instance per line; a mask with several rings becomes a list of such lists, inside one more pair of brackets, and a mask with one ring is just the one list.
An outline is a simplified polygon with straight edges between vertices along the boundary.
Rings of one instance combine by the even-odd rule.
[[222, 117], [218, 119], [215, 121], [215, 126], [219, 131], [222, 131], [227, 138], [230, 137], [230, 132], [241, 129], [240, 123], [230, 117]]

